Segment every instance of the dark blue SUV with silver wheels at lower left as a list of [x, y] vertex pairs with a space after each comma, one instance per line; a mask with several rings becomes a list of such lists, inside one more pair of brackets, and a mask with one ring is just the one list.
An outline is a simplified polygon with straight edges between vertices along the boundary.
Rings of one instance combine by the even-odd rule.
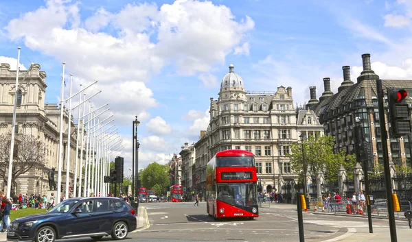
[[47, 213], [15, 219], [8, 241], [54, 242], [56, 239], [91, 237], [126, 239], [136, 229], [135, 209], [116, 197], [75, 197]]

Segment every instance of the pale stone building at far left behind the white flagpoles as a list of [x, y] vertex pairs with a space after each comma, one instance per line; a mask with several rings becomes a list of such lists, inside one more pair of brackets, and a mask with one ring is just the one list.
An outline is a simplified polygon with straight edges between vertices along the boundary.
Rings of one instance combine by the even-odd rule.
[[[10, 70], [9, 64], [0, 64], [0, 134], [12, 130], [12, 114], [14, 93], [16, 90], [16, 71]], [[34, 167], [29, 172], [19, 176], [14, 181], [15, 193], [45, 194], [49, 190], [47, 172], [56, 168], [56, 184], [58, 170], [58, 145], [60, 130], [60, 107], [57, 104], [45, 104], [47, 88], [46, 73], [40, 71], [39, 64], [32, 64], [28, 71], [19, 71], [19, 86], [17, 87], [16, 134], [31, 134], [45, 143], [45, 163]], [[64, 112], [63, 120], [63, 166], [62, 185], [65, 189], [67, 128], [71, 125], [70, 182], [73, 186], [73, 174], [76, 158], [77, 125], [73, 117], [69, 122], [68, 111]], [[80, 152], [79, 152], [80, 156]], [[7, 162], [8, 160], [0, 160]], [[6, 171], [7, 172], [7, 171]], [[7, 179], [7, 178], [6, 178]], [[6, 181], [1, 181], [1, 189], [6, 190]], [[13, 191], [12, 191], [13, 193]], [[62, 193], [64, 194], [64, 193]]]

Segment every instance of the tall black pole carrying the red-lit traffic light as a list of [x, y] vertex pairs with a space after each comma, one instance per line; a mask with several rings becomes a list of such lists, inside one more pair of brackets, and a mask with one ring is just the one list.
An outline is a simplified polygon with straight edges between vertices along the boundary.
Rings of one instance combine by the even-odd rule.
[[398, 241], [398, 239], [396, 237], [395, 213], [393, 212], [391, 171], [389, 167], [389, 156], [388, 156], [388, 145], [387, 145], [388, 132], [386, 130], [385, 110], [383, 108], [382, 80], [376, 80], [376, 90], [378, 91], [378, 108], [379, 108], [378, 110], [379, 110], [379, 123], [380, 123], [380, 134], [381, 134], [380, 139], [382, 142], [383, 166], [385, 169], [385, 185], [386, 185], [386, 193], [387, 193], [389, 231], [391, 233], [391, 242], [396, 242]]

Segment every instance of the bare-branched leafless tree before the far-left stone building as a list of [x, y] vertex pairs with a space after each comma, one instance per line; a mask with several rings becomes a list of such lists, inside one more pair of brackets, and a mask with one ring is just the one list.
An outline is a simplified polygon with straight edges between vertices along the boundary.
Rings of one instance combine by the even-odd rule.
[[[0, 134], [0, 177], [7, 184], [12, 135]], [[34, 167], [44, 167], [45, 145], [33, 135], [16, 134], [14, 136], [14, 153], [12, 181], [16, 181], [21, 174], [27, 173]], [[12, 193], [14, 193], [14, 182]]]

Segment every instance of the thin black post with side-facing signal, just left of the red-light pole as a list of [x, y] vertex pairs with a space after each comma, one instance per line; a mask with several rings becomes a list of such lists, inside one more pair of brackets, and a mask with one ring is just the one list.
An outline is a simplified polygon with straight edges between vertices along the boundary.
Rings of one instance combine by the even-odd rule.
[[[356, 122], [356, 160], [361, 160], [362, 162], [362, 167], [363, 167], [363, 178], [365, 180], [365, 196], [366, 196], [366, 206], [367, 206], [367, 221], [369, 223], [369, 233], [372, 234], [374, 232], [374, 228], [372, 227], [372, 210], [371, 210], [371, 202], [369, 199], [369, 178], [368, 178], [368, 173], [369, 173], [369, 149], [366, 149], [365, 143], [369, 146], [369, 143], [367, 143], [365, 136], [363, 134], [363, 130], [361, 130], [361, 118], [360, 117], [355, 117], [355, 122]], [[362, 138], [362, 141], [361, 141]], [[362, 152], [363, 151], [363, 152]], [[366, 154], [366, 155], [365, 155]]]

